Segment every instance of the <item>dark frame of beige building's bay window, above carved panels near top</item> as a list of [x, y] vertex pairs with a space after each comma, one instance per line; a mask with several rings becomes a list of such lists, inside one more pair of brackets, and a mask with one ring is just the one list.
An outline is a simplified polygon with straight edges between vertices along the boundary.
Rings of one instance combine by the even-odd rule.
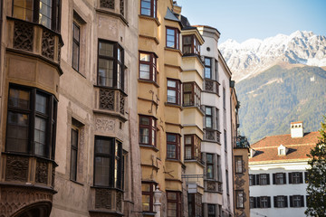
[[[106, 43], [106, 44], [112, 44], [113, 46], [113, 55], [101, 55], [100, 54], [100, 44]], [[120, 51], [120, 52], [118, 52]], [[124, 49], [120, 45], [119, 42], [113, 42], [109, 40], [98, 40], [98, 52], [97, 52], [97, 85], [100, 87], [105, 88], [111, 88], [111, 89], [118, 89], [118, 90], [124, 90], [124, 72], [125, 72], [125, 65], [124, 65]], [[120, 54], [120, 57], [119, 57]], [[119, 60], [119, 58], [121, 60]], [[112, 86], [107, 85], [105, 81], [105, 84], [101, 84], [101, 76], [100, 76], [100, 60], [105, 61], [113, 61], [113, 69], [112, 69]], [[120, 69], [120, 72], [119, 72]], [[120, 73], [120, 74], [119, 74]], [[110, 78], [110, 77], [103, 77], [103, 78]], [[109, 82], [110, 83], [110, 82]]]

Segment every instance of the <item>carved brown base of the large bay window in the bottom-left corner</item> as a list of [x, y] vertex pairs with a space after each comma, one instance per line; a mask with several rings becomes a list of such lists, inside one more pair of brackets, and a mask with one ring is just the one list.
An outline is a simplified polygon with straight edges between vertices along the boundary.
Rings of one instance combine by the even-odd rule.
[[56, 164], [43, 157], [2, 153], [1, 165], [0, 216], [17, 212], [49, 216]]

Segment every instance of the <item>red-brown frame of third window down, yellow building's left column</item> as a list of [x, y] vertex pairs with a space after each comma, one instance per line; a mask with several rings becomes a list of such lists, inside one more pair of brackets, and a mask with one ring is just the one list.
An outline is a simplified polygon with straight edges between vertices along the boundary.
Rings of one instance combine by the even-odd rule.
[[[149, 125], [144, 125], [141, 124], [141, 118], [148, 118], [149, 119]], [[141, 137], [140, 137], [140, 128], [147, 128], [149, 129], [149, 143], [142, 143]], [[144, 145], [144, 146], [157, 146], [157, 119], [151, 116], [145, 116], [145, 115], [139, 115], [139, 145]], [[154, 133], [154, 137], [153, 137]], [[154, 141], [153, 141], [154, 138]]]

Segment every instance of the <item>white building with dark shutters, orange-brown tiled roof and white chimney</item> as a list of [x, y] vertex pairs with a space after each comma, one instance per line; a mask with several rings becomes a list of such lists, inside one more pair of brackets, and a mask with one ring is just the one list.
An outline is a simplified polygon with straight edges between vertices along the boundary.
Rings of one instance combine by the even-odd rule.
[[291, 134], [264, 137], [251, 146], [249, 159], [251, 216], [305, 216], [307, 207], [306, 156], [319, 132], [303, 132], [292, 122]]

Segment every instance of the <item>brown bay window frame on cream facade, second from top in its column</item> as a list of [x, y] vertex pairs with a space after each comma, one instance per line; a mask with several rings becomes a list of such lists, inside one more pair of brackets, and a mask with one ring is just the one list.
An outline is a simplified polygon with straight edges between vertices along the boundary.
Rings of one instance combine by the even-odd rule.
[[[191, 85], [191, 90], [186, 90], [186, 86], [187, 85]], [[182, 83], [182, 106], [183, 107], [190, 107], [190, 106], [196, 106], [200, 108], [201, 105], [201, 89], [199, 88], [199, 86], [197, 85], [197, 83], [195, 81], [193, 82], [184, 82]], [[189, 102], [186, 103], [186, 98], [185, 95], [189, 94]]]

